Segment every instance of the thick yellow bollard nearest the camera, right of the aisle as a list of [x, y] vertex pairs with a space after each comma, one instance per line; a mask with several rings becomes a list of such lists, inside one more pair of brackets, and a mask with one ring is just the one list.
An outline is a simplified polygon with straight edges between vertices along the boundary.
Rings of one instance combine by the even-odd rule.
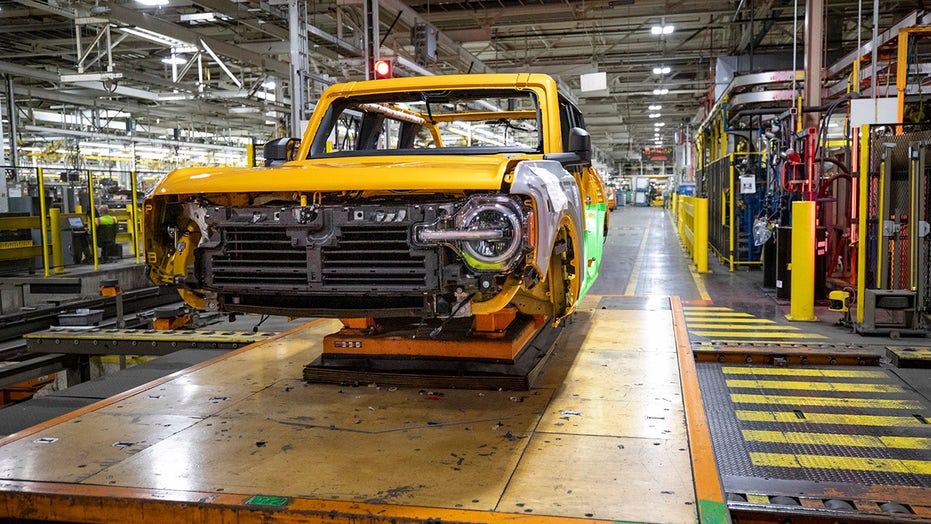
[[815, 316], [815, 203], [792, 202], [792, 285], [786, 319], [817, 321]]

